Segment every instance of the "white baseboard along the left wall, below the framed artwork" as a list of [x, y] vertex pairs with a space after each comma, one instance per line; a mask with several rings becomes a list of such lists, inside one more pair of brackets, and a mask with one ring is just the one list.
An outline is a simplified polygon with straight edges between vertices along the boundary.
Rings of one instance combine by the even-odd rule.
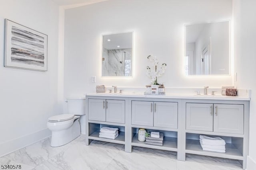
[[50, 135], [51, 131], [49, 129], [43, 129], [41, 131], [19, 137], [12, 141], [0, 143], [0, 157], [36, 143], [42, 139], [45, 139], [46, 137], [49, 137]]

